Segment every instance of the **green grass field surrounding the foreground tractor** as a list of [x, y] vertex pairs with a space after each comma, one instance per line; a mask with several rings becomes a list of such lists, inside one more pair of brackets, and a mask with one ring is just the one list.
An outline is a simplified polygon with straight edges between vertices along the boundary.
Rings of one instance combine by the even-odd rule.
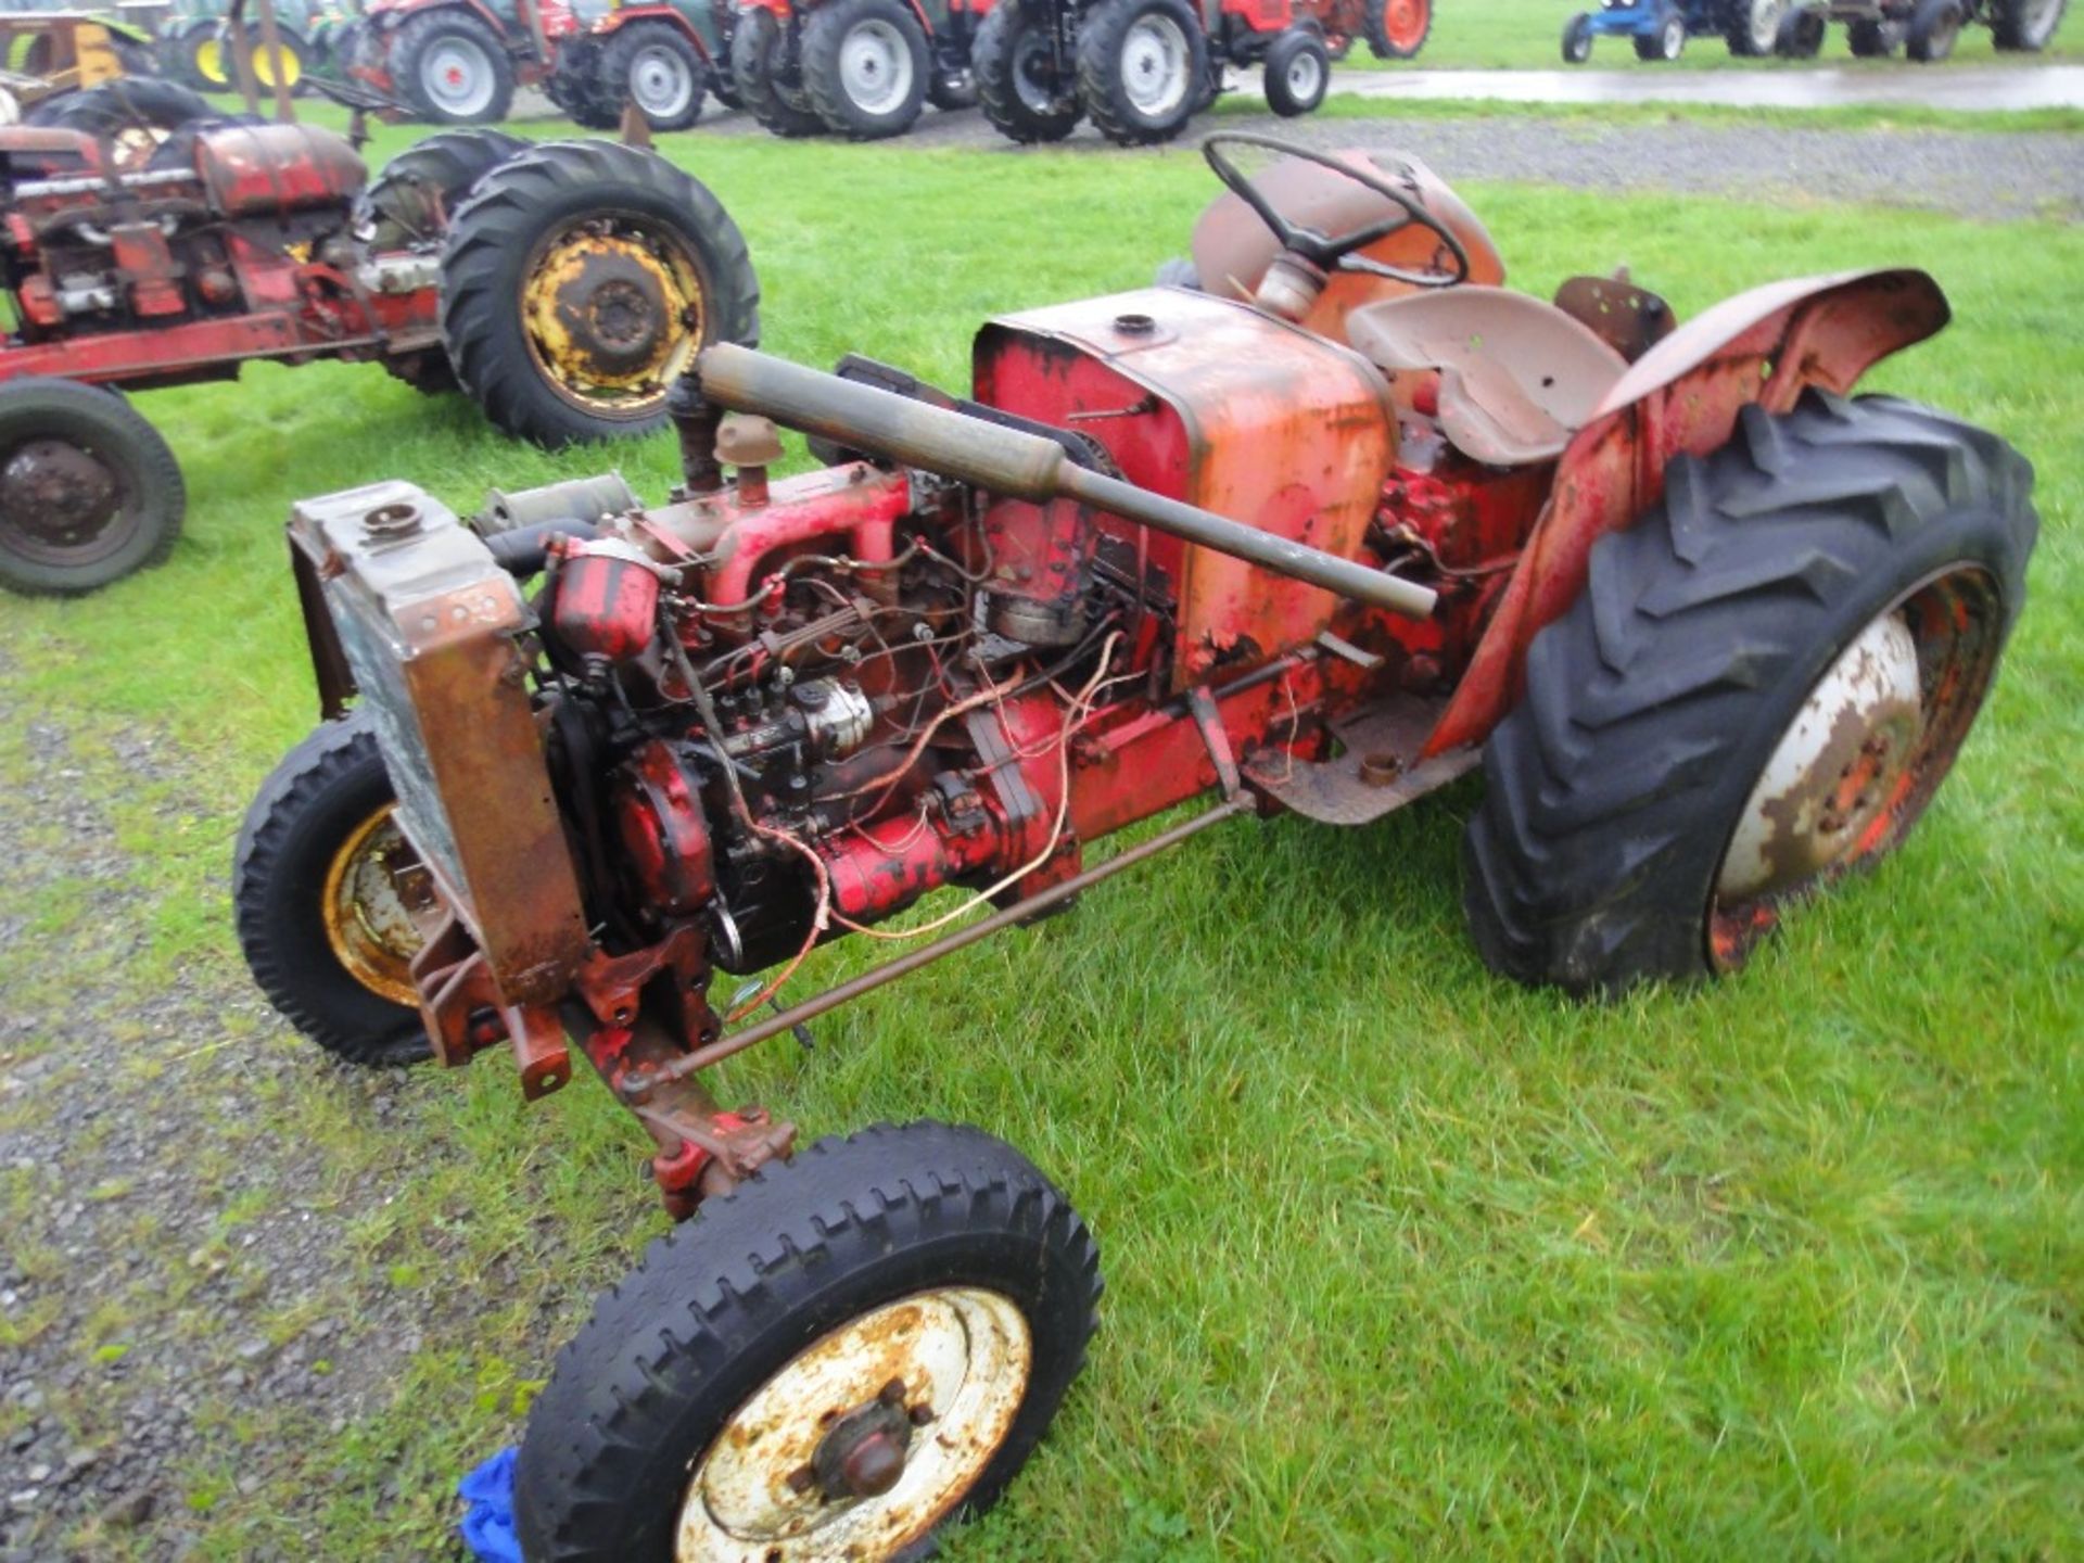
[[[1561, 19], [1523, 8], [1542, 40]], [[1473, 10], [1444, 6], [1442, 48]], [[1190, 152], [1032, 156], [1017, 190], [1007, 160], [961, 152], [671, 152], [752, 242], [767, 346], [859, 348], [944, 383], [992, 311], [1148, 279], [1209, 194]], [[2024, 446], [2044, 534], [2007, 673], [1917, 838], [1742, 979], [1582, 1007], [1490, 977], [1465, 942], [1471, 788], [1357, 836], [1230, 827], [842, 1011], [813, 1055], [727, 1065], [721, 1096], [813, 1136], [973, 1121], [1092, 1219], [1092, 1365], [954, 1559], [2084, 1555], [2084, 233], [1469, 194], [1532, 292], [1619, 260], [1682, 313], [1871, 263], [1949, 288], [1955, 327], [1876, 383]], [[177, 982], [246, 992], [231, 838], [313, 721], [290, 502], [406, 475], [471, 508], [488, 483], [606, 463], [659, 494], [673, 465], [667, 438], [519, 450], [373, 367], [263, 367], [138, 404], [188, 471], [175, 559], [92, 600], [0, 606], [13, 698], [90, 752], [140, 729], [181, 748], [167, 777], [98, 763], [81, 782], [138, 854], [142, 952], [100, 954], [102, 929], [58, 900], [38, 913], [52, 959], [0, 971], [10, 1007], [46, 1017], [29, 1052], [94, 1048], [121, 1080], [198, 1046], [302, 1048], [250, 1009], [177, 1038], [65, 1021], [79, 982], [140, 1002]], [[0, 782], [23, 763], [0, 734]], [[794, 992], [859, 963], [829, 950]], [[490, 1055], [415, 1077], [379, 1121], [317, 1059], [296, 1080], [250, 1102], [254, 1132], [315, 1146], [354, 1232], [327, 1298], [300, 1307], [408, 1294], [423, 1342], [340, 1432], [225, 1405], [183, 1471], [208, 1523], [192, 1557], [302, 1557], [313, 1532], [327, 1559], [446, 1555], [456, 1473], [515, 1436], [546, 1342], [663, 1217], [602, 1092], [527, 1109]], [[23, 1111], [0, 1105], [0, 1127]], [[110, 1298], [79, 1353], [110, 1315], [210, 1328], [171, 1298]], [[277, 1323], [296, 1325], [288, 1307]]]

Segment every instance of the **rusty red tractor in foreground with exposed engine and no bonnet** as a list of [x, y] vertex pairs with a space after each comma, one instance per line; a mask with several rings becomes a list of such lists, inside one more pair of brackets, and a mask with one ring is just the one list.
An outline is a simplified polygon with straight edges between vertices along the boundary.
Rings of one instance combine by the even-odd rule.
[[[529, 1096], [584, 1065], [694, 1217], [534, 1405], [529, 1563], [911, 1557], [1086, 1357], [1094, 1242], [1019, 1152], [792, 1157], [711, 1065], [1223, 821], [1359, 827], [1478, 767], [1492, 967], [1711, 977], [1884, 859], [1967, 736], [2038, 523], [2003, 440], [1853, 396], [1944, 327], [1928, 275], [1671, 329], [1630, 281], [1507, 292], [1415, 158], [1207, 156], [1221, 286], [992, 321], [967, 398], [715, 346], [663, 504], [296, 506], [327, 719], [240, 834], [254, 977], [346, 1059], [502, 1046]], [[823, 465], [775, 479], [777, 425]], [[842, 934], [898, 952], [769, 1013]]]

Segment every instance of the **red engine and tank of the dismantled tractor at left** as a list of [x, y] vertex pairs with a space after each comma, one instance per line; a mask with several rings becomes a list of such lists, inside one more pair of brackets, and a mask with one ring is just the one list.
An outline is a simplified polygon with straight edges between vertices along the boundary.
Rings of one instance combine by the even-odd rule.
[[[21, 340], [246, 317], [231, 346], [265, 352], [288, 346], [300, 311], [346, 331], [363, 317], [358, 292], [398, 288], [361, 265], [348, 235], [363, 181], [346, 138], [313, 125], [181, 131], [144, 167], [121, 167], [115, 144], [77, 131], [0, 131], [4, 279]], [[167, 369], [196, 377], [194, 363]]]

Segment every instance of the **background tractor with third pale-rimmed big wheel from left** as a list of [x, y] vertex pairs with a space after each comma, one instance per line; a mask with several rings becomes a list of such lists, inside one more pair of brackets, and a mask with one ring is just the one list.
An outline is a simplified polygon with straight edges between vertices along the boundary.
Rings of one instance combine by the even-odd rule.
[[925, 104], [969, 108], [971, 46], [992, 0], [746, 0], [731, 79], [775, 135], [882, 140]]

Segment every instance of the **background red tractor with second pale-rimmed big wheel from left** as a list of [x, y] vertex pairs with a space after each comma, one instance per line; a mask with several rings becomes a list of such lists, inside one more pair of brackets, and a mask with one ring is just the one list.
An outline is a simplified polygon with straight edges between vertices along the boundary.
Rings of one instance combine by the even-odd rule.
[[729, 0], [611, 4], [559, 42], [544, 92], [590, 129], [621, 125], [625, 104], [636, 104], [654, 131], [688, 129], [702, 115], [704, 94], [738, 106], [736, 27]]

